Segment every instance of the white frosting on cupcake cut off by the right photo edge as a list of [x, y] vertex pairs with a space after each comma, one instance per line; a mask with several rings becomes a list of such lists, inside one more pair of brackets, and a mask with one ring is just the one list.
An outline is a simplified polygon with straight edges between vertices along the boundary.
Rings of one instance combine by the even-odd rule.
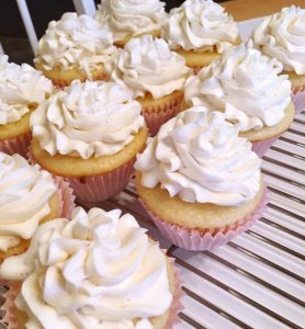
[[305, 9], [283, 8], [266, 18], [252, 37], [262, 53], [284, 64], [284, 70], [305, 75]]

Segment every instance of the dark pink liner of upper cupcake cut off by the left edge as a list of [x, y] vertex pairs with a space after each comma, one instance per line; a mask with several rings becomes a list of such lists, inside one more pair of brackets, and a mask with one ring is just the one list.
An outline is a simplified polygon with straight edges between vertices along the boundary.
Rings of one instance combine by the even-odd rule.
[[10, 156], [19, 154], [22, 157], [26, 158], [27, 148], [30, 146], [31, 139], [32, 134], [27, 133], [14, 138], [0, 140], [0, 151]]

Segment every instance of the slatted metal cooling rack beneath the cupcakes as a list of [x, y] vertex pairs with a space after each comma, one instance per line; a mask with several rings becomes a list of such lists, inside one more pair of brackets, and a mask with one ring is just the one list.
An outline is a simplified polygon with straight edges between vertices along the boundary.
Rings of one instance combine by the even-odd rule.
[[162, 239], [133, 181], [102, 204], [132, 213], [176, 258], [185, 292], [176, 329], [305, 328], [305, 111], [267, 152], [262, 171], [271, 192], [263, 217], [213, 251]]

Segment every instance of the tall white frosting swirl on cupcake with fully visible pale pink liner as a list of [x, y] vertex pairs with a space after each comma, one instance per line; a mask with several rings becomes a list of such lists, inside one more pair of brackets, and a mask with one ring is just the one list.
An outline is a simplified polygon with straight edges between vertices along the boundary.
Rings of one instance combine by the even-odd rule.
[[146, 188], [185, 202], [239, 206], [260, 189], [261, 160], [223, 113], [191, 107], [163, 124], [138, 156]]

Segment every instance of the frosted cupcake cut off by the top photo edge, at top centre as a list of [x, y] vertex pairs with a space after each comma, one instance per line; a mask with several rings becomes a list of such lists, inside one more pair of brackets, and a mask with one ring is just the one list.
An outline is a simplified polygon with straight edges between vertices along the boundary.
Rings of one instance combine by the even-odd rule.
[[113, 34], [120, 47], [144, 34], [160, 36], [167, 13], [165, 2], [159, 0], [102, 0], [95, 20]]

